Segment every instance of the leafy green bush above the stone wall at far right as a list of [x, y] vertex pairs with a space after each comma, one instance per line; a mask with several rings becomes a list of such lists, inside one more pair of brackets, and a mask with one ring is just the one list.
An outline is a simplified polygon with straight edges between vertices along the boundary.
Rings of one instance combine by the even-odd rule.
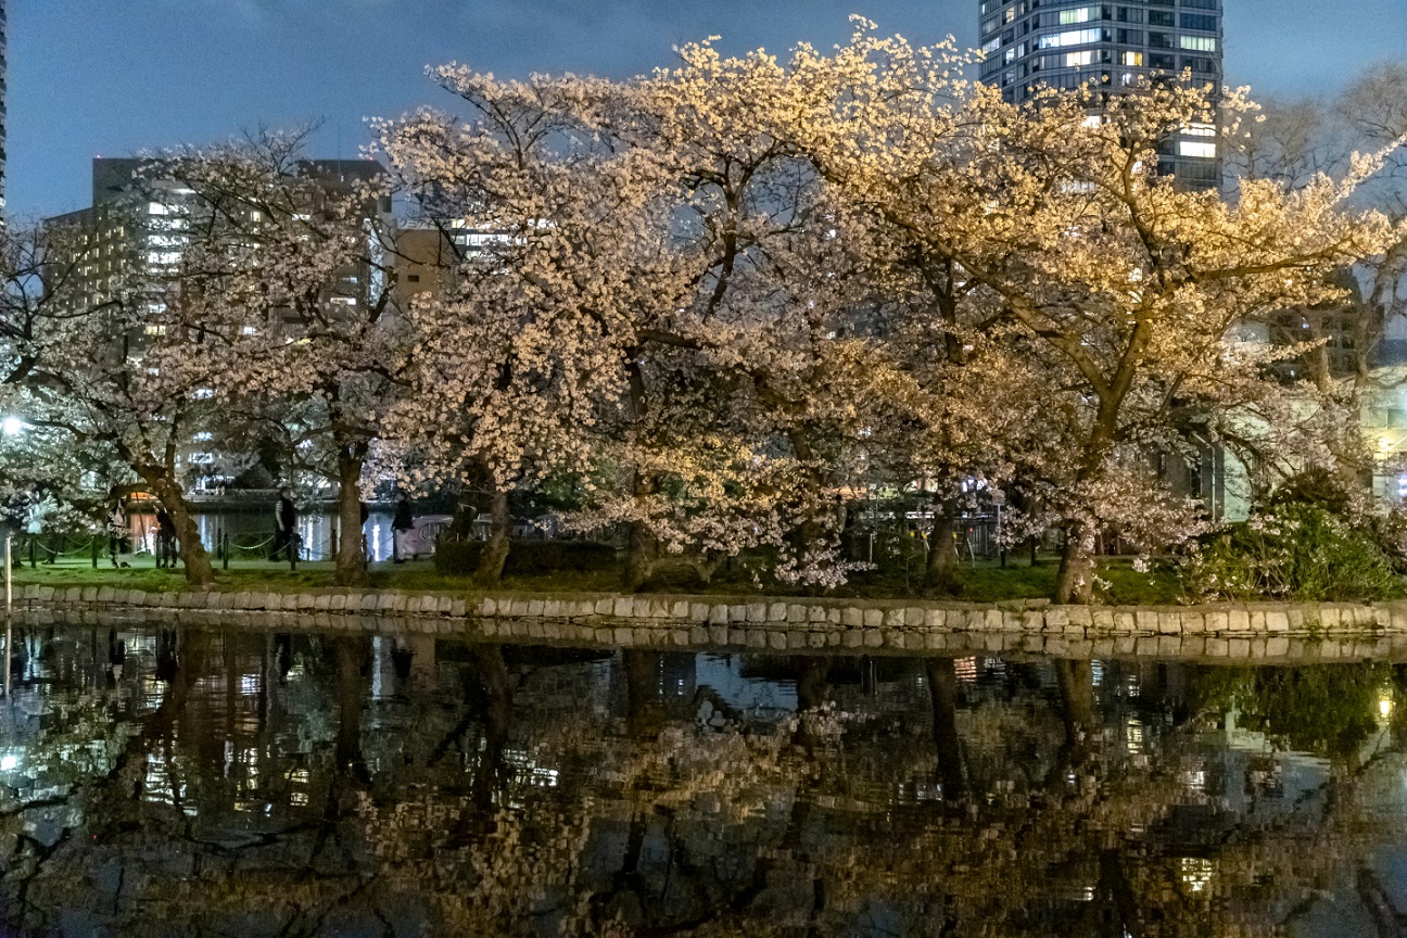
[[1200, 544], [1186, 568], [1202, 598], [1396, 599], [1403, 578], [1370, 532], [1320, 505], [1282, 502]]

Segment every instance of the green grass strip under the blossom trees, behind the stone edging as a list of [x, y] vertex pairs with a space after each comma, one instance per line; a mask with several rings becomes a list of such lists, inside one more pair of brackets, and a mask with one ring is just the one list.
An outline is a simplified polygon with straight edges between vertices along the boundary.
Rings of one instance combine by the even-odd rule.
[[[182, 589], [186, 577], [179, 570], [156, 570], [151, 557], [127, 555], [128, 567], [113, 568], [104, 557], [94, 570], [89, 560], [62, 560], [56, 564], [30, 567], [18, 564], [14, 570], [17, 586], [30, 584], [48, 586], [118, 586], [121, 589]], [[297, 571], [290, 571], [287, 563], [273, 564], [266, 560], [234, 560], [228, 570], [214, 561], [215, 582], [231, 589], [263, 589], [297, 592], [318, 586], [332, 586], [331, 563], [300, 563]], [[1031, 567], [1024, 560], [999, 567], [993, 563], [964, 564], [958, 574], [961, 591], [951, 599], [962, 602], [1002, 602], [1012, 599], [1048, 599], [1055, 591], [1057, 563], [1044, 560]], [[1127, 561], [1113, 560], [1100, 567], [1099, 575], [1110, 585], [1106, 599], [1116, 605], [1171, 605], [1178, 600], [1180, 588], [1176, 574], [1168, 570], [1154, 570], [1148, 574], [1135, 572]], [[447, 591], [473, 592], [473, 581], [467, 577], [450, 577], [435, 570], [428, 560], [405, 564], [373, 564], [371, 586], [380, 589]], [[917, 596], [917, 578], [903, 570], [874, 570], [855, 574], [850, 584], [834, 591], [833, 596], [864, 599]], [[615, 592], [619, 588], [619, 574], [615, 570], [560, 571], [552, 574], [505, 577], [502, 589], [523, 592]], [[758, 589], [746, 563], [720, 570], [709, 585], [696, 579], [661, 581], [654, 592], [680, 592], [704, 595], [796, 595], [798, 589], [782, 584], [764, 584]], [[937, 598], [937, 596], [934, 596]]]

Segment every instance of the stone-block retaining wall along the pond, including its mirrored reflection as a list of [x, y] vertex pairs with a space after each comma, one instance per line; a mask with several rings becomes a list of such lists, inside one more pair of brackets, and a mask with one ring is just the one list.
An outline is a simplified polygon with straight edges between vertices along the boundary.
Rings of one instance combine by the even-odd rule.
[[27, 586], [15, 596], [15, 608], [24, 624], [236, 624], [772, 653], [1407, 661], [1407, 603], [1124, 608], [756, 596]]

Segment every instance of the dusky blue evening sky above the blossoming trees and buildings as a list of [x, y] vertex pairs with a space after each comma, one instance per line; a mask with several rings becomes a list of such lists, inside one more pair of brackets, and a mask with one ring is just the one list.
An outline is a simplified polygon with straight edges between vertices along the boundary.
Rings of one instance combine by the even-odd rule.
[[[1341, 86], [1407, 56], [1407, 0], [1223, 0], [1227, 80], [1262, 94]], [[830, 45], [861, 13], [886, 32], [975, 42], [976, 0], [7, 0], [14, 215], [89, 203], [93, 155], [325, 120], [319, 155], [352, 156], [363, 117], [447, 105], [424, 66], [609, 76], [729, 51]]]

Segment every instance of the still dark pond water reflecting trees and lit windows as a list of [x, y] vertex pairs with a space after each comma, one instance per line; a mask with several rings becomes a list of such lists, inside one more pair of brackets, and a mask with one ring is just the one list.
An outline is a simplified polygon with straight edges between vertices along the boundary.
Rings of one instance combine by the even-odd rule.
[[75, 626], [11, 667], [6, 935], [1407, 921], [1401, 665]]

